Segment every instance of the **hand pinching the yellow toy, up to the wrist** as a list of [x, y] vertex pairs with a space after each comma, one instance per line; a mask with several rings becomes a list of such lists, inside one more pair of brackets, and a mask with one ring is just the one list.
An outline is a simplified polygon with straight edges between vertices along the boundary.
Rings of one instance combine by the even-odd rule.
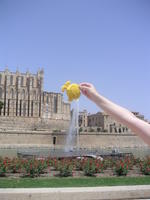
[[95, 102], [96, 97], [98, 96], [98, 92], [91, 83], [80, 83], [79, 87], [82, 94]]

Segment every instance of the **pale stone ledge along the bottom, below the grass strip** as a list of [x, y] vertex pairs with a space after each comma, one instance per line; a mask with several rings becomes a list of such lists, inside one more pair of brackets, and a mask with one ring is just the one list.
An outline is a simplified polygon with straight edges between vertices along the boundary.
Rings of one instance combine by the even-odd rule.
[[0, 189], [0, 200], [127, 200], [149, 199], [150, 185]]

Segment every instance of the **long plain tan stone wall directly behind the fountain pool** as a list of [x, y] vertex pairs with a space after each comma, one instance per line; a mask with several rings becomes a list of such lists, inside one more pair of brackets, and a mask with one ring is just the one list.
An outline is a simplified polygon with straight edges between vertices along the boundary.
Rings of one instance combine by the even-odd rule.
[[[8, 145], [45, 145], [53, 146], [53, 137], [56, 137], [56, 147], [66, 144], [67, 134], [52, 133], [48, 131], [28, 132], [0, 132], [0, 146]], [[76, 138], [75, 138], [76, 143]], [[106, 134], [106, 133], [81, 133], [79, 135], [81, 148], [105, 147], [147, 147], [143, 140], [133, 134]]]

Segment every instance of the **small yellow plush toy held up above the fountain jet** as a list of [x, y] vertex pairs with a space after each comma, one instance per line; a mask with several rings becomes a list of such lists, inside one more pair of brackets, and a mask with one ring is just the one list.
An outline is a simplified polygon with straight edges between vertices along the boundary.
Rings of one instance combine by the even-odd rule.
[[62, 86], [62, 92], [64, 92], [65, 90], [66, 90], [69, 101], [76, 100], [80, 97], [80, 88], [79, 88], [79, 85], [76, 83], [71, 84], [70, 81], [67, 81]]

